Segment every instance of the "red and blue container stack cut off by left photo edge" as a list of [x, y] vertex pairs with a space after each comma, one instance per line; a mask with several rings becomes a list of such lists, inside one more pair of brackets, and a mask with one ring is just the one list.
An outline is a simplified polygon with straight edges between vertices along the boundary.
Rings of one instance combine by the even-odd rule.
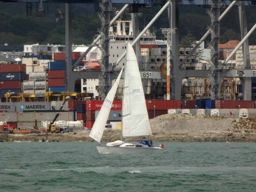
[[20, 93], [21, 83], [26, 79], [26, 65], [0, 64], [0, 97], [5, 93]]

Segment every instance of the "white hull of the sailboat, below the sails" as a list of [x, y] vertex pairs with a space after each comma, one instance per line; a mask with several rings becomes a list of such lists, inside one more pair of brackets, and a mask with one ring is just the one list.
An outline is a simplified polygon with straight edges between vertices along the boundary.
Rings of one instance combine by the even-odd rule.
[[99, 154], [156, 154], [157, 152], [163, 152], [163, 148], [160, 147], [108, 147], [97, 146]]

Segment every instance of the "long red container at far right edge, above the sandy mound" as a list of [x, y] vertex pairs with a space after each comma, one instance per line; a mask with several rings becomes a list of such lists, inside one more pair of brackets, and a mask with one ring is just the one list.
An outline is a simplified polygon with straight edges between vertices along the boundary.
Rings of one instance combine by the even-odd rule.
[[254, 100], [216, 100], [216, 109], [255, 109]]

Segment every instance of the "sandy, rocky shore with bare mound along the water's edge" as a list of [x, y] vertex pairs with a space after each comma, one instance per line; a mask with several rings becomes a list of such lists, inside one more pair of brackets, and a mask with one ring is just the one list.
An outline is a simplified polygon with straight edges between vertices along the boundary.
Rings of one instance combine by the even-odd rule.
[[[256, 120], [192, 115], [161, 115], [150, 120], [154, 141], [256, 141]], [[50, 133], [50, 141], [92, 141], [89, 131]], [[45, 134], [0, 134], [0, 141], [40, 141]], [[106, 129], [102, 141], [120, 139], [120, 131]], [[134, 140], [143, 138], [134, 138]]]

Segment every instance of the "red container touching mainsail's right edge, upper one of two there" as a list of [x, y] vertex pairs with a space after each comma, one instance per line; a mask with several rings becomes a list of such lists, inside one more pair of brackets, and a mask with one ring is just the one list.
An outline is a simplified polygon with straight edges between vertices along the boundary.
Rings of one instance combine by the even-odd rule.
[[167, 110], [181, 108], [180, 100], [146, 100], [146, 104], [148, 110]]

